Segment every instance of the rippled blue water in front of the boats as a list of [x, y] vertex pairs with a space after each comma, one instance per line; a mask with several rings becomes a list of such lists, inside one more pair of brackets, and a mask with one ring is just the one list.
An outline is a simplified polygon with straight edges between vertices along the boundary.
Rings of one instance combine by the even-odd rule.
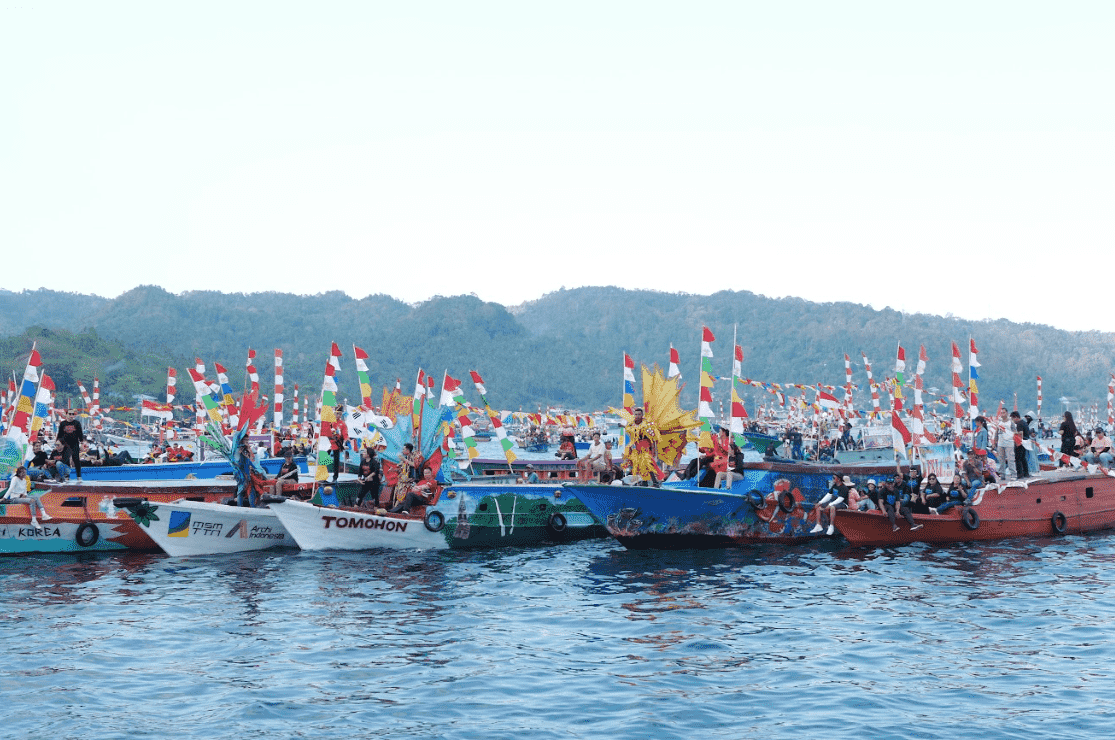
[[1106, 738], [1115, 537], [0, 559], [19, 738]]

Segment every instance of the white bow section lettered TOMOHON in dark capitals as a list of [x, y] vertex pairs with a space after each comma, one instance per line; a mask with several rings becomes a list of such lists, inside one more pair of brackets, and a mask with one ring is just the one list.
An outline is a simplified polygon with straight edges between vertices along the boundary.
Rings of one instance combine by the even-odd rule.
[[440, 533], [444, 517], [433, 519], [406, 514], [377, 515], [353, 508], [317, 506], [287, 500], [271, 510], [302, 549], [445, 549]]

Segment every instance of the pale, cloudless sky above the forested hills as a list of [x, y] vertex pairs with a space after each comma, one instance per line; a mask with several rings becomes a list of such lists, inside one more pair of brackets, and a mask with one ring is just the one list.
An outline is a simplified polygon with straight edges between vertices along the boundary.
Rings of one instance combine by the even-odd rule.
[[1109, 1], [13, 0], [0, 289], [1115, 331], [1113, 32]]

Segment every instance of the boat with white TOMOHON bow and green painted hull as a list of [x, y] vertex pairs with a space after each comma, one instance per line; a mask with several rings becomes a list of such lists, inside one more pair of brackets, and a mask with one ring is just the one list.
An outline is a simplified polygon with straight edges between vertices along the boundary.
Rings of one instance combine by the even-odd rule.
[[589, 509], [560, 486], [455, 485], [410, 514], [301, 502], [271, 508], [302, 549], [459, 549], [605, 535]]

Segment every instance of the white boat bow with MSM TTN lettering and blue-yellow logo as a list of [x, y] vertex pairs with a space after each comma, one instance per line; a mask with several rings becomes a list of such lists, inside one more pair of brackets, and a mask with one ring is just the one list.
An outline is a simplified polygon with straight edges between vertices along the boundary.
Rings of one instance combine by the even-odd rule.
[[145, 532], [167, 555], [298, 547], [268, 507], [246, 508], [181, 498], [169, 504], [148, 504], [147, 508]]

